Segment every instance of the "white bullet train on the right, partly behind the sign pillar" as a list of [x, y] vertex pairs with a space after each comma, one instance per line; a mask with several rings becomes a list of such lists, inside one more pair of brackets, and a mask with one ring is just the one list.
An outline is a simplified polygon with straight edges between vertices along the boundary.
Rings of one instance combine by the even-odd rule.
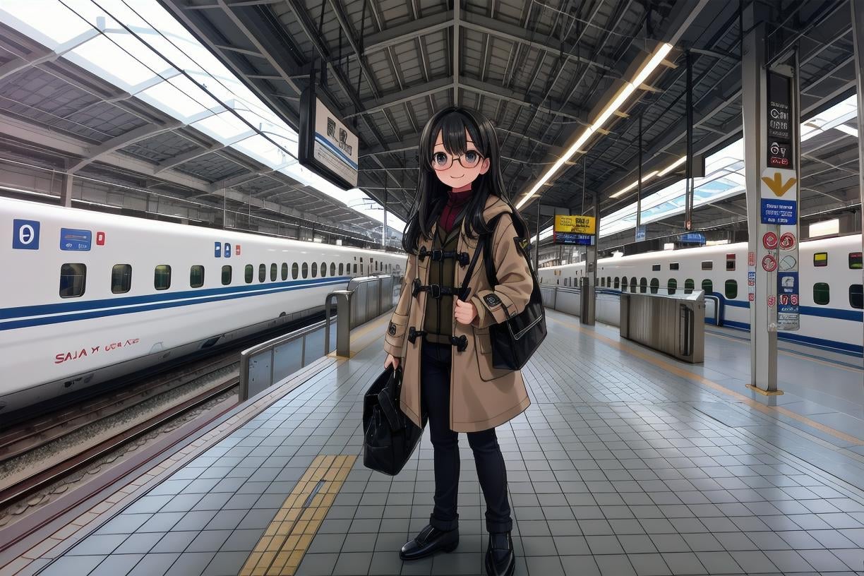
[[[861, 235], [804, 242], [798, 258], [800, 329], [778, 332], [778, 338], [861, 357]], [[538, 277], [541, 285], [578, 287], [584, 275], [585, 263], [577, 263], [542, 268]], [[598, 294], [650, 294], [658, 288], [702, 289], [719, 302], [706, 322], [750, 328], [746, 243], [602, 258], [597, 263]]]

